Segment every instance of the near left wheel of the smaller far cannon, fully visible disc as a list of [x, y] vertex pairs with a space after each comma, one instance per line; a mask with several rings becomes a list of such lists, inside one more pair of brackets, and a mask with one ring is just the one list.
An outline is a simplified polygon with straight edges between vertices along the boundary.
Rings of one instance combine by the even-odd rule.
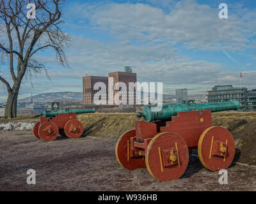
[[44, 122], [38, 128], [38, 135], [45, 142], [49, 142], [57, 138], [59, 135], [59, 128], [55, 122]]

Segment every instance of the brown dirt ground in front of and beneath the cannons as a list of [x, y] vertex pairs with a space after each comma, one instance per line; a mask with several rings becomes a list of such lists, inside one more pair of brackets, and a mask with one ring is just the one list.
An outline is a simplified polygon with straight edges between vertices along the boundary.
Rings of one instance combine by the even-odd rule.
[[[37, 140], [31, 131], [0, 131], [0, 191], [256, 191], [256, 168], [233, 164], [228, 184], [191, 157], [184, 175], [158, 182], [147, 168], [125, 170], [115, 157], [117, 138], [86, 136]], [[27, 170], [36, 171], [28, 185]]]

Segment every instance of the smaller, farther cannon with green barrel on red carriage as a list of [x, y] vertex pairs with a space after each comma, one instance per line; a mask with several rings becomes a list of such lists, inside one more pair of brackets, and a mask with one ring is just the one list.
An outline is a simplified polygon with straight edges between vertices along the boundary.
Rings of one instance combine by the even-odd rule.
[[77, 114], [95, 113], [95, 109], [70, 110], [45, 110], [33, 128], [36, 138], [45, 142], [55, 140], [60, 134], [68, 138], [79, 138], [83, 134], [83, 125], [76, 119]]

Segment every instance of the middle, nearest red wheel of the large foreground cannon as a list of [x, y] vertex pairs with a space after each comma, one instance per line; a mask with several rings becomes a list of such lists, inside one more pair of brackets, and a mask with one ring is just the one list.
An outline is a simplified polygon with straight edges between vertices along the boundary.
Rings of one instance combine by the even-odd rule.
[[188, 166], [187, 144], [176, 133], [159, 133], [148, 144], [145, 161], [154, 178], [163, 182], [179, 179]]

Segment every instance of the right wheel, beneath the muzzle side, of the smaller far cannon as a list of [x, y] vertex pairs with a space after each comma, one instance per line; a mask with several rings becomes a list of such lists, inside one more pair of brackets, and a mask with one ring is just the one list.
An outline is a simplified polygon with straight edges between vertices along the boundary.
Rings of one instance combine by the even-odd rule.
[[64, 127], [64, 133], [68, 138], [79, 138], [83, 134], [84, 128], [79, 120], [68, 120]]

